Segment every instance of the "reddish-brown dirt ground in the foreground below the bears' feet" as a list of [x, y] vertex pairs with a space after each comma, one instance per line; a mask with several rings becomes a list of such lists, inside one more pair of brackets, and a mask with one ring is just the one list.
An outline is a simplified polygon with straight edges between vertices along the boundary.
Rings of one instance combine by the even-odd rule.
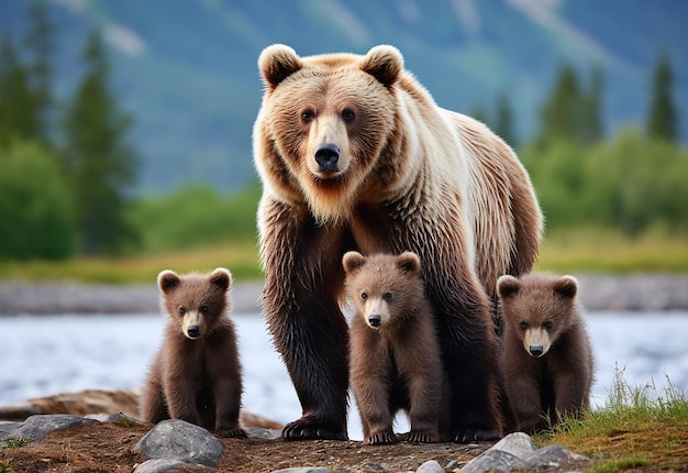
[[[45, 440], [0, 449], [2, 463], [14, 472], [132, 472], [146, 458], [133, 451], [149, 427], [95, 422], [55, 431]], [[270, 472], [291, 466], [329, 466], [335, 472], [415, 471], [436, 460], [450, 471], [458, 470], [491, 443], [397, 443], [363, 446], [359, 441], [284, 441], [222, 439], [225, 450], [220, 471]], [[386, 470], [384, 470], [386, 469]], [[208, 471], [189, 468], [188, 472]]]

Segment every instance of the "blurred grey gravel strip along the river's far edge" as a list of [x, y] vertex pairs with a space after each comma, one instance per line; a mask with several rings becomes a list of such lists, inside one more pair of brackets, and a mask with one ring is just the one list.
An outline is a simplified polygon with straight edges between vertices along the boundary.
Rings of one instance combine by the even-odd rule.
[[[587, 310], [688, 309], [688, 274], [575, 275]], [[262, 282], [236, 282], [235, 312], [260, 310]], [[102, 285], [0, 280], [0, 316], [59, 314], [152, 314], [159, 310], [155, 284]]]

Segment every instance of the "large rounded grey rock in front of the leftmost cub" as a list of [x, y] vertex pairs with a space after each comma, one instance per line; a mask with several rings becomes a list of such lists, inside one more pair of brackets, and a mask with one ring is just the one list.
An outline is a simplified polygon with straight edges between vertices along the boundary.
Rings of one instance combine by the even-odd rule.
[[151, 459], [177, 459], [217, 468], [224, 444], [202, 427], [171, 419], [155, 426], [134, 450]]

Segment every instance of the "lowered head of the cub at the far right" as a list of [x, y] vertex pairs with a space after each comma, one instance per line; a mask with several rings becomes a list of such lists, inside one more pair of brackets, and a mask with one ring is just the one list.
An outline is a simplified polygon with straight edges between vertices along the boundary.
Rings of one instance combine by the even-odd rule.
[[574, 276], [530, 274], [497, 279], [508, 334], [515, 334], [531, 356], [545, 355], [575, 321], [578, 283]]

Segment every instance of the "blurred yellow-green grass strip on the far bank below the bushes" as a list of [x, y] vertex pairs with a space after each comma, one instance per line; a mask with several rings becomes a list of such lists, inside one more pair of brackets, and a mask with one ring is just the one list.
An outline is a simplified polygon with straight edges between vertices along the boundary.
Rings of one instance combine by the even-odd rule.
[[[149, 283], [165, 268], [186, 273], [217, 266], [228, 267], [237, 280], [263, 278], [256, 239], [224, 239], [185, 250], [118, 258], [0, 261], [0, 279]], [[688, 273], [688, 238], [656, 232], [626, 239], [611, 231], [559, 230], [545, 238], [535, 270], [553, 273]]]

